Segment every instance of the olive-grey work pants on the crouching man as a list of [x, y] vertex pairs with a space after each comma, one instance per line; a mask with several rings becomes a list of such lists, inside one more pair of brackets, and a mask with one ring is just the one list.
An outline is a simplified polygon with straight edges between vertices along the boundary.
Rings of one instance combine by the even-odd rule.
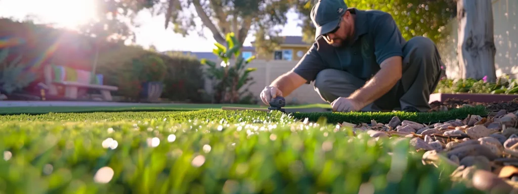
[[[385, 95], [370, 103], [361, 111], [379, 112], [415, 108], [420, 112], [430, 109], [430, 94], [434, 92], [440, 78], [445, 74], [444, 64], [433, 41], [425, 37], [414, 37], [403, 47], [402, 77]], [[338, 97], [348, 97], [366, 81], [351, 73], [336, 69], [324, 69], [313, 82], [320, 97], [331, 103]]]

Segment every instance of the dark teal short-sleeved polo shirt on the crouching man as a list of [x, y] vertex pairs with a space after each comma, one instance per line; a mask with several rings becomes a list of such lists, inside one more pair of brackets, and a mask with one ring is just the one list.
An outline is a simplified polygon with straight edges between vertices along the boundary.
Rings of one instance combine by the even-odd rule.
[[316, 40], [293, 71], [308, 84], [323, 69], [347, 71], [367, 81], [392, 56], [403, 56], [406, 40], [389, 13], [379, 10], [349, 9], [356, 14], [354, 39], [351, 44], [335, 48], [323, 38]]

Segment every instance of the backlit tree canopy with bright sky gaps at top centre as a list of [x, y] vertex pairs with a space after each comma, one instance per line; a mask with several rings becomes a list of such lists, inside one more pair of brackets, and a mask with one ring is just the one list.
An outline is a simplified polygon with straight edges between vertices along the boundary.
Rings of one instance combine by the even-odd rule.
[[[168, 0], [152, 1], [155, 14], [165, 14], [165, 28], [172, 27], [175, 33], [188, 36], [193, 33], [205, 37], [203, 29], [208, 28], [218, 43], [226, 44], [225, 35], [234, 33], [240, 44], [251, 31], [256, 38], [275, 37], [281, 29], [275, 29], [287, 22], [286, 12], [294, 0]], [[202, 22], [198, 26], [195, 19]], [[266, 37], [266, 38], [262, 38]], [[267, 42], [267, 41], [258, 41]], [[268, 50], [269, 43], [255, 45], [259, 50]]]

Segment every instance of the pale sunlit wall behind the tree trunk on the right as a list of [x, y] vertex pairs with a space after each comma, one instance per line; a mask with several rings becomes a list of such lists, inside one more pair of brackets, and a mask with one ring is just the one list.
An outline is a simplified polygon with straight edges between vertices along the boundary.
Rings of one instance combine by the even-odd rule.
[[[518, 1], [493, 0], [494, 40], [496, 46], [495, 67], [496, 76], [506, 73], [518, 78]], [[457, 61], [457, 20], [450, 22], [449, 38], [437, 46], [441, 52], [442, 61], [447, 66], [449, 78], [459, 78]]]

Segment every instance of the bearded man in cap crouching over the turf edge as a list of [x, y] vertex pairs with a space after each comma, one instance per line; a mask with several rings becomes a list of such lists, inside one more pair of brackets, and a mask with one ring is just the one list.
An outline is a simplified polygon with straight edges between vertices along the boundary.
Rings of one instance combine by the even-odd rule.
[[343, 0], [319, 1], [311, 20], [315, 42], [290, 72], [264, 88], [266, 105], [313, 83], [338, 112], [430, 109], [430, 93], [444, 75], [433, 41], [406, 41], [389, 13], [348, 8]]

